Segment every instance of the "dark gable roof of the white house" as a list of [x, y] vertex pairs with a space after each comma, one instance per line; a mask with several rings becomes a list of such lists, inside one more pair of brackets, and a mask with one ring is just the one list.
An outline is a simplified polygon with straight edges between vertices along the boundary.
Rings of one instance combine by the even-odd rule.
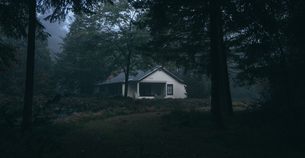
[[[164, 70], [164, 72], [167, 75], [170, 75], [171, 77], [173, 77], [174, 79], [176, 79], [178, 82], [180, 83], [184, 83], [184, 81], [182, 81], [181, 79], [179, 79], [178, 77], [176, 77], [175, 75], [173, 75], [172, 73], [170, 73], [169, 71], [167, 71], [165, 68], [163, 67], [159, 67], [156, 68], [155, 70], [153, 70], [152, 72], [144, 72], [141, 70], [137, 70], [136, 72], [138, 72], [137, 76], [132, 76], [129, 75], [128, 81], [129, 82], [138, 82], [141, 81], [142, 79], [145, 79], [148, 75], [156, 72], [157, 70], [162, 69]], [[107, 81], [105, 81], [104, 83], [99, 83], [97, 85], [102, 85], [102, 84], [111, 84], [111, 83], [124, 83], [125, 82], [125, 74], [124, 73], [120, 73], [119, 75], [117, 75], [116, 77], [112, 77], [111, 79], [108, 79]]]

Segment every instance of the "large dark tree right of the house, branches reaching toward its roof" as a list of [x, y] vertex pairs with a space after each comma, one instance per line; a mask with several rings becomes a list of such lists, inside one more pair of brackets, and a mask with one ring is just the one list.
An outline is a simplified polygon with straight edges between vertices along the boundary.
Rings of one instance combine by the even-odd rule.
[[174, 61], [190, 75], [210, 75], [211, 112], [217, 128], [222, 128], [221, 108], [233, 116], [223, 35], [223, 25], [228, 21], [223, 19], [228, 18], [223, 15], [228, 12], [226, 3], [155, 0], [138, 5], [145, 6], [151, 18], [147, 22], [153, 36], [149, 49], [156, 61]]

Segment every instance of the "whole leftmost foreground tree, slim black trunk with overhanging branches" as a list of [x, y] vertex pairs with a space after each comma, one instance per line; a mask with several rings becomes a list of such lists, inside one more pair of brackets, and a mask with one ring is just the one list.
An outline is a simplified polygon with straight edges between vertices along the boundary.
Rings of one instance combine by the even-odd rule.
[[[4, 28], [5, 33], [15, 38], [28, 37], [27, 72], [22, 122], [23, 132], [31, 130], [36, 30], [40, 30], [38, 31], [37, 37], [40, 37], [41, 39], [46, 39], [49, 35], [42, 31], [44, 26], [36, 19], [36, 12], [45, 14], [46, 12], [53, 10], [53, 13], [44, 20], [49, 20], [50, 22], [58, 21], [60, 23], [66, 19], [70, 11], [74, 12], [74, 14], [81, 14], [83, 12], [94, 14], [91, 10], [95, 6], [99, 6], [102, 2], [113, 4], [110, 0], [44, 0], [39, 2], [36, 0], [18, 0], [1, 2], [1, 9], [9, 12], [12, 12], [10, 9], [15, 9], [11, 15], [7, 15], [7, 12], [1, 10], [1, 13], [3, 14], [0, 18], [1, 28]], [[18, 17], [17, 20], [16, 17]], [[18, 25], [7, 23], [13, 20], [16, 20]], [[28, 27], [28, 32], [25, 31], [26, 27]]]

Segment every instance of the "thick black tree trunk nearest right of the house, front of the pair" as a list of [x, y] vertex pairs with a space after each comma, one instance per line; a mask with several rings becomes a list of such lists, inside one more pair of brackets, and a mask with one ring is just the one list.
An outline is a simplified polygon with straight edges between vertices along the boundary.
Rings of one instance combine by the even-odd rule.
[[220, 102], [220, 53], [218, 49], [217, 14], [220, 11], [216, 0], [210, 1], [210, 56], [211, 56], [211, 113], [214, 128], [223, 128]]

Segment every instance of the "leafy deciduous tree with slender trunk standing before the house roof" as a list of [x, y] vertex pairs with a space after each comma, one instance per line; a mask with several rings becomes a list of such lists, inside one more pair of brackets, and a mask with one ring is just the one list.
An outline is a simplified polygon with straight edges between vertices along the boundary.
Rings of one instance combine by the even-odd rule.
[[[135, 70], [148, 69], [151, 63], [143, 55], [144, 51], [139, 49], [147, 43], [149, 32], [147, 28], [139, 28], [136, 25], [144, 18], [144, 13], [140, 9], [133, 8], [127, 1], [115, 1], [114, 4], [104, 5], [101, 9], [96, 8], [96, 14], [93, 15], [76, 16], [68, 36], [64, 38], [63, 49], [65, 52], [77, 54], [82, 63], [95, 60], [99, 61], [97, 66], [99, 65], [100, 69], [124, 73], [124, 96], [127, 97], [128, 76], [137, 75]], [[77, 51], [75, 46], [78, 48]], [[101, 70], [96, 71], [100, 72]], [[117, 75], [116, 73], [114, 75]], [[92, 74], [94, 73], [91, 72]], [[107, 78], [100, 79], [104, 81]]]

